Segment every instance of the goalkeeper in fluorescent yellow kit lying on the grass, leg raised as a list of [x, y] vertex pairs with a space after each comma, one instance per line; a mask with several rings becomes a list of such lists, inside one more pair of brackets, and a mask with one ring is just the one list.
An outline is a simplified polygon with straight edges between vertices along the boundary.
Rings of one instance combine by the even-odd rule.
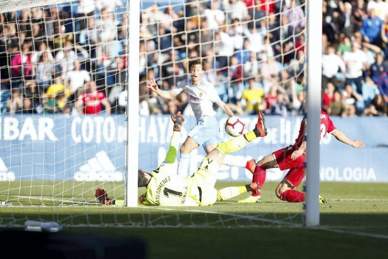
[[191, 177], [177, 175], [173, 166], [177, 157], [180, 129], [185, 119], [180, 112], [171, 113], [171, 118], [174, 122], [174, 132], [165, 160], [151, 174], [143, 170], [138, 171], [138, 186], [146, 187], [146, 194], [140, 196], [139, 204], [146, 206], [206, 206], [214, 204], [216, 200], [230, 199], [247, 191], [252, 193], [259, 191], [258, 183], [226, 187], [221, 190], [214, 189], [214, 184], [218, 169], [227, 154], [242, 149], [248, 142], [257, 137], [267, 135], [261, 112], [259, 112], [255, 129], [218, 144], [202, 160], [198, 170]]

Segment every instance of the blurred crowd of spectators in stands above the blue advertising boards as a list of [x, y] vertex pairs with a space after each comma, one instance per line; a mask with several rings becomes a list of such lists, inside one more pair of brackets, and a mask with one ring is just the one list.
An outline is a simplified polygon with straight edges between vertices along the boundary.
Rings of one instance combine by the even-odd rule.
[[[146, 80], [173, 89], [193, 58], [237, 114], [304, 112], [304, 0], [156, 2], [142, 0], [141, 115], [190, 113], [185, 94], [162, 99]], [[1, 113], [123, 113], [125, 12], [122, 0], [78, 0], [0, 14]], [[323, 0], [322, 40], [323, 109], [387, 115], [388, 1]]]

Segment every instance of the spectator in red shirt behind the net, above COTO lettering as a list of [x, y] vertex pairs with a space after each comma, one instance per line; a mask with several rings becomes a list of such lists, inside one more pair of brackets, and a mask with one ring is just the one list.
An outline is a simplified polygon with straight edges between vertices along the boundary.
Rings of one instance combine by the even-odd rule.
[[101, 91], [97, 91], [96, 82], [90, 82], [89, 92], [83, 93], [76, 102], [76, 108], [81, 114], [97, 114], [105, 106], [107, 114], [111, 113], [111, 104]]

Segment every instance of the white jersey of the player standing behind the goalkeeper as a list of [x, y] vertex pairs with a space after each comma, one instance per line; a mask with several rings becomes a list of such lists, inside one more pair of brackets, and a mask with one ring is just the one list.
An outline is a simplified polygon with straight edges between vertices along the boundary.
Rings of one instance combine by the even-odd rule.
[[182, 91], [189, 97], [189, 103], [197, 121], [203, 116], [214, 116], [216, 114], [213, 110], [213, 102], [218, 102], [221, 99], [214, 85], [210, 82], [202, 80], [200, 85], [193, 85], [191, 79], [185, 79], [177, 88], [173, 89], [173, 92], [177, 95]]

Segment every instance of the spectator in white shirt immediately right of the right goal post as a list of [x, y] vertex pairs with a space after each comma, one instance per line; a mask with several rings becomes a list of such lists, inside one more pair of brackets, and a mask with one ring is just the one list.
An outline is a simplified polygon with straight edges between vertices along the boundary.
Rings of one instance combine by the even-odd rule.
[[322, 86], [326, 86], [328, 82], [339, 87], [336, 75], [340, 69], [341, 73], [345, 74], [346, 67], [342, 59], [337, 56], [336, 50], [333, 47], [327, 47], [326, 54], [322, 56]]

